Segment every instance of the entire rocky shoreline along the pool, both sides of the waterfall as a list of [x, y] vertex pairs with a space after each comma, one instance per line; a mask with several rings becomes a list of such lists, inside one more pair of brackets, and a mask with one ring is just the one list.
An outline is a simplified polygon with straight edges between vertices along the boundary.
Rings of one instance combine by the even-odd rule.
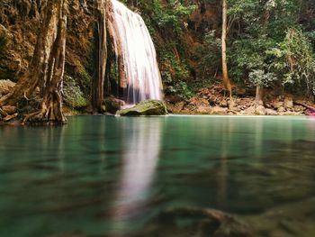
[[[0, 97], [5, 96], [13, 89], [14, 83], [2, 80], [0, 83]], [[257, 103], [255, 94], [250, 89], [235, 88], [232, 104], [220, 84], [200, 88], [195, 96], [189, 100], [181, 100], [175, 96], [166, 96], [166, 108], [169, 114], [191, 115], [313, 115], [315, 104], [303, 96], [290, 94], [276, 94], [269, 91], [264, 102]], [[69, 95], [69, 93], [68, 93]], [[76, 95], [76, 94], [75, 94]], [[93, 114], [88, 103], [83, 107], [74, 107], [76, 97], [66, 96], [63, 112], [67, 116]], [[24, 98], [16, 106], [4, 105], [0, 107], [0, 124], [19, 125], [25, 114], [36, 111], [40, 105], [40, 93], [36, 90], [31, 98]], [[124, 105], [121, 100], [113, 97], [104, 100], [104, 114], [116, 114]]]

